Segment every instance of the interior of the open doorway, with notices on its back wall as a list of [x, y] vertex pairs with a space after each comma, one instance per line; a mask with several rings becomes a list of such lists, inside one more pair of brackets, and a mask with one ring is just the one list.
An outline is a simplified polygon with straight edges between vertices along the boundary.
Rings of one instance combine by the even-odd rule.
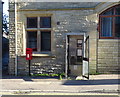
[[82, 75], [83, 36], [70, 35], [68, 46], [69, 76]]

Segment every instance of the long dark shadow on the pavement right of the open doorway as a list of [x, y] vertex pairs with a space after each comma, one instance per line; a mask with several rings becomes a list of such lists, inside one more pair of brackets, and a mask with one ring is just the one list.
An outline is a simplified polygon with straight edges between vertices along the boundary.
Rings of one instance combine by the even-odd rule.
[[120, 84], [120, 79], [102, 79], [102, 80], [67, 80], [63, 85], [113, 85]]

